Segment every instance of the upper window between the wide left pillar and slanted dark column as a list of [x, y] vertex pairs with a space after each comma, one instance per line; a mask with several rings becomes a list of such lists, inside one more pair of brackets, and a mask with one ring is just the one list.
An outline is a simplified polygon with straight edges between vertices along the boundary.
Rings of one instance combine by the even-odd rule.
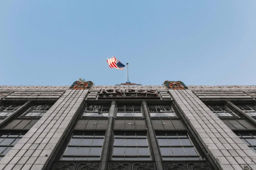
[[44, 115], [47, 110], [49, 110], [50, 108], [52, 107], [52, 104], [44, 104], [44, 105], [34, 105], [34, 106], [31, 106], [25, 113], [23, 113], [20, 117], [23, 117], [23, 116], [36, 116], [36, 117], [41, 117], [42, 115]]

